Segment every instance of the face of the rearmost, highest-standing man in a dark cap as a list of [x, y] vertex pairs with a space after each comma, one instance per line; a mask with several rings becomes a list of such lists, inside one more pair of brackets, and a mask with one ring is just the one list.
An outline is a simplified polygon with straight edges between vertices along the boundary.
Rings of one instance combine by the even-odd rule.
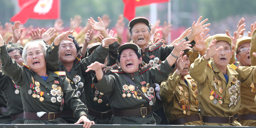
[[131, 40], [134, 41], [139, 47], [147, 46], [151, 33], [149, 33], [148, 27], [145, 23], [137, 23], [132, 28], [133, 35], [130, 36]]

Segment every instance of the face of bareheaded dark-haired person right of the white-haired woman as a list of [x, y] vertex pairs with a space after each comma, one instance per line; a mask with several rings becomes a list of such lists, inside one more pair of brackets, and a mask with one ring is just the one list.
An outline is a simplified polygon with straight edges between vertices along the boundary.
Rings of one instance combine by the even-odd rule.
[[59, 61], [70, 64], [73, 63], [76, 56], [76, 46], [73, 41], [62, 40], [59, 44]]

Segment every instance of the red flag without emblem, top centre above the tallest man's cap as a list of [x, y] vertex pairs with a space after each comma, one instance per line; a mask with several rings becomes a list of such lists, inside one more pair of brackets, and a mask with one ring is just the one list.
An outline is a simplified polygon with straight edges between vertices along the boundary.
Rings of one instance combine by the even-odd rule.
[[123, 0], [123, 16], [129, 21], [135, 17], [135, 7], [145, 6], [151, 3], [168, 2], [169, 0]]

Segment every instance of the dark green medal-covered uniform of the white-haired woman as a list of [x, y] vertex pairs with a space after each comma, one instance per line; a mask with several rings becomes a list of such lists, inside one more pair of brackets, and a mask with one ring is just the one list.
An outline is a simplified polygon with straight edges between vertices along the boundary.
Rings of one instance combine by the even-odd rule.
[[24, 123], [67, 123], [62, 116], [64, 104], [77, 117], [86, 115], [87, 109], [76, 96], [65, 72], [47, 71], [46, 81], [28, 66], [20, 67], [12, 60], [5, 46], [0, 47], [1, 69], [20, 88], [24, 108]]

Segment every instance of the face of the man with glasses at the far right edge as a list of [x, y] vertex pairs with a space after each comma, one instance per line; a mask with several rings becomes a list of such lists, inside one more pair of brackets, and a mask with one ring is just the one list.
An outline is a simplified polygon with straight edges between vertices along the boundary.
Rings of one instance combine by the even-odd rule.
[[250, 59], [250, 48], [251, 43], [242, 43], [237, 48], [238, 54], [236, 55], [237, 60], [243, 65], [243, 66], [251, 66], [251, 59]]

